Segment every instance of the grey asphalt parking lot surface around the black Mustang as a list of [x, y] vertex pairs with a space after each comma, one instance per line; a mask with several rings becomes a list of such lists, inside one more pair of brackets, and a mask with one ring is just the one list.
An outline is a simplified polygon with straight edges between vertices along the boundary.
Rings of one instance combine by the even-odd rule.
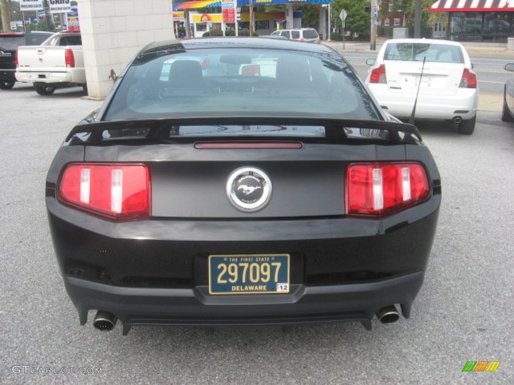
[[[512, 383], [514, 125], [482, 109], [472, 136], [420, 125], [443, 181], [424, 286], [411, 318], [280, 328], [80, 326], [53, 254], [45, 176], [67, 132], [101, 105], [80, 88], [0, 91], [0, 383]], [[500, 361], [496, 372], [462, 372]], [[84, 372], [84, 373], [81, 373]]]

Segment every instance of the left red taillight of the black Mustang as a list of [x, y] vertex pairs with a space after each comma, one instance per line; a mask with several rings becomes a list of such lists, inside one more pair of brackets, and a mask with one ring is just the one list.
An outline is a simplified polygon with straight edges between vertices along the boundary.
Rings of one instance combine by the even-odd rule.
[[150, 216], [150, 172], [141, 164], [70, 164], [58, 198], [65, 204], [112, 219]]

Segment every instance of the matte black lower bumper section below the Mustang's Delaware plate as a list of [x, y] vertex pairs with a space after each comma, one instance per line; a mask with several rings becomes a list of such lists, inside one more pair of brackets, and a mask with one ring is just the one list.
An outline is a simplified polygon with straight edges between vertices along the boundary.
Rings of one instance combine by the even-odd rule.
[[[134, 325], [248, 325], [327, 321], [370, 323], [381, 307], [400, 303], [403, 316], [410, 309], [424, 273], [380, 282], [291, 286], [287, 295], [209, 296], [207, 286], [189, 289], [121, 287], [65, 277], [66, 291], [79, 312], [108, 309], [123, 323], [123, 334]], [[371, 323], [370, 323], [371, 326]]]

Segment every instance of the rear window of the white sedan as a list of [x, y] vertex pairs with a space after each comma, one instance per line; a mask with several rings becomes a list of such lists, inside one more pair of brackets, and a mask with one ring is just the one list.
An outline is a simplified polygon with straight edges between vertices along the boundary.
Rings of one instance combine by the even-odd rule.
[[461, 47], [447, 44], [392, 43], [386, 46], [384, 60], [464, 63]]

